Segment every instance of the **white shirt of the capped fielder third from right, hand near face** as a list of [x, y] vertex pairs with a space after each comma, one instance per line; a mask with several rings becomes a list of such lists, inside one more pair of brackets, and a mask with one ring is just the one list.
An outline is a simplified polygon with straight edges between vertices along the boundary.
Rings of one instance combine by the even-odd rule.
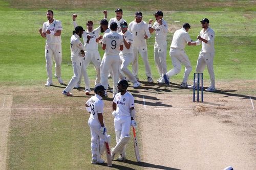
[[168, 26], [165, 20], [162, 19], [162, 25], [160, 26], [157, 21], [154, 22], [152, 28], [156, 32], [156, 42], [163, 42], [166, 41]]

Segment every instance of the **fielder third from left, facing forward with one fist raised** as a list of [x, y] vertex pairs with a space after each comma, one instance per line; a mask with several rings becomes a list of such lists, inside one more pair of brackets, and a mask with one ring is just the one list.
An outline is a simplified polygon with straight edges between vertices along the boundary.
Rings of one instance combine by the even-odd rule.
[[[76, 17], [77, 17], [77, 14], [73, 14], [74, 27], [78, 26], [76, 23]], [[87, 31], [82, 34], [84, 44], [87, 43], [87, 39], [88, 39], [87, 36], [91, 37], [90, 43], [88, 43], [88, 45], [86, 47], [85, 59], [83, 60], [83, 65], [82, 65], [82, 75], [83, 75], [84, 83], [86, 85], [86, 94], [87, 95], [90, 94], [91, 90], [90, 90], [90, 79], [87, 75], [86, 70], [91, 62], [93, 63], [94, 68], [96, 70], [96, 79], [95, 79], [94, 86], [96, 86], [97, 84], [100, 84], [100, 68], [99, 68], [99, 66], [101, 63], [101, 58], [100, 58], [99, 51], [98, 51], [98, 42], [96, 41], [96, 39], [99, 37], [99, 34], [100, 34], [100, 26], [96, 29], [93, 29], [93, 21], [91, 21], [91, 20], [87, 21]], [[81, 77], [75, 87], [76, 88], [80, 87], [80, 83], [81, 83]]]

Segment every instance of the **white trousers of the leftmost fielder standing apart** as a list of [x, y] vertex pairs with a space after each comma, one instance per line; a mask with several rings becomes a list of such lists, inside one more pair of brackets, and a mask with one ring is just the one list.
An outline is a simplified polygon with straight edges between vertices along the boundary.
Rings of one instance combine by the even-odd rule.
[[55, 73], [57, 78], [61, 77], [61, 43], [57, 44], [46, 44], [45, 47], [45, 57], [46, 57], [46, 72], [47, 72], [47, 81], [52, 83], [52, 64], [53, 60], [55, 62]]

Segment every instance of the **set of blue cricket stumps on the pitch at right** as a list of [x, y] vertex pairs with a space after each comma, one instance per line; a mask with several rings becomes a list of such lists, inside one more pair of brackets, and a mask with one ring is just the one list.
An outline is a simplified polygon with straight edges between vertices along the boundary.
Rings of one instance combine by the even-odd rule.
[[196, 101], [196, 75], [197, 75], [197, 101], [199, 102], [199, 91], [200, 91], [200, 75], [201, 75], [201, 102], [203, 102], [203, 73], [195, 72], [194, 73], [194, 83], [193, 83], [193, 102]]

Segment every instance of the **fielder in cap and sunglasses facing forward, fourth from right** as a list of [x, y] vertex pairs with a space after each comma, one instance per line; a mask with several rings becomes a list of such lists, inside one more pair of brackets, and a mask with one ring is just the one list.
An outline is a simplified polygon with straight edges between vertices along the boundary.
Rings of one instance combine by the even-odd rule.
[[134, 36], [134, 42], [133, 42], [134, 60], [132, 62], [133, 75], [137, 78], [137, 80], [139, 80], [138, 53], [140, 53], [141, 57], [143, 58], [143, 62], [146, 69], [147, 82], [153, 83], [154, 81], [151, 75], [150, 63], [148, 62], [147, 46], [146, 46], [146, 40], [150, 38], [151, 35], [150, 35], [150, 31], [148, 31], [148, 24], [142, 20], [142, 12], [138, 11], [135, 13], [135, 20], [129, 23], [128, 30]]

